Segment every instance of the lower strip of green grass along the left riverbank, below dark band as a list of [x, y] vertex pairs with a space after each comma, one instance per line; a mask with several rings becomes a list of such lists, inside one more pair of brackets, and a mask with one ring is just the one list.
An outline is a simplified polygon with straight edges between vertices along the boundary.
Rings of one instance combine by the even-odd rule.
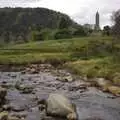
[[66, 62], [69, 60], [69, 53], [26, 53], [18, 55], [0, 55], [0, 64], [30, 64], [30, 63], [51, 63]]

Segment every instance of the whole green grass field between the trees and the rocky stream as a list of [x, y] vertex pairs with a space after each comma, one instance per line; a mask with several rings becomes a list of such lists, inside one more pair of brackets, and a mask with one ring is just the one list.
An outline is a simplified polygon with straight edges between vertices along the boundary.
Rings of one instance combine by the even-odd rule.
[[82, 37], [8, 45], [0, 50], [0, 64], [51, 63], [120, 85], [120, 45], [113, 48], [112, 42], [112, 37]]

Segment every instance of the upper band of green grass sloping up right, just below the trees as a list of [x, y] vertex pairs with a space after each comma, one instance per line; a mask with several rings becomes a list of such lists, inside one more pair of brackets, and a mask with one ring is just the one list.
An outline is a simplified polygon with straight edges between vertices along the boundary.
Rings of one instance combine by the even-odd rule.
[[[32, 49], [39, 52], [73, 52], [86, 46], [89, 41], [110, 41], [110, 37], [82, 37], [62, 40], [48, 40], [43, 42], [31, 42], [26, 44], [17, 44], [8, 46], [8, 49]], [[6, 47], [5, 47], [6, 48]]]

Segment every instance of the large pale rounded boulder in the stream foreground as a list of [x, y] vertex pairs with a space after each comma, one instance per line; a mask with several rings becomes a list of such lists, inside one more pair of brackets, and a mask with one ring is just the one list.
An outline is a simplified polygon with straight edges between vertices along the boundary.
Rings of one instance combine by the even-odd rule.
[[66, 117], [68, 120], [77, 120], [75, 105], [60, 94], [49, 95], [46, 100], [46, 114], [50, 116]]

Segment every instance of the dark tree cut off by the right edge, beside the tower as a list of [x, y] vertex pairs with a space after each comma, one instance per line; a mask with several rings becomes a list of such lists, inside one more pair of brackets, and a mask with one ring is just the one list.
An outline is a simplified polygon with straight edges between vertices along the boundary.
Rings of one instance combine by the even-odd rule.
[[112, 33], [117, 38], [120, 38], [120, 9], [113, 13], [112, 20], [114, 21]]

